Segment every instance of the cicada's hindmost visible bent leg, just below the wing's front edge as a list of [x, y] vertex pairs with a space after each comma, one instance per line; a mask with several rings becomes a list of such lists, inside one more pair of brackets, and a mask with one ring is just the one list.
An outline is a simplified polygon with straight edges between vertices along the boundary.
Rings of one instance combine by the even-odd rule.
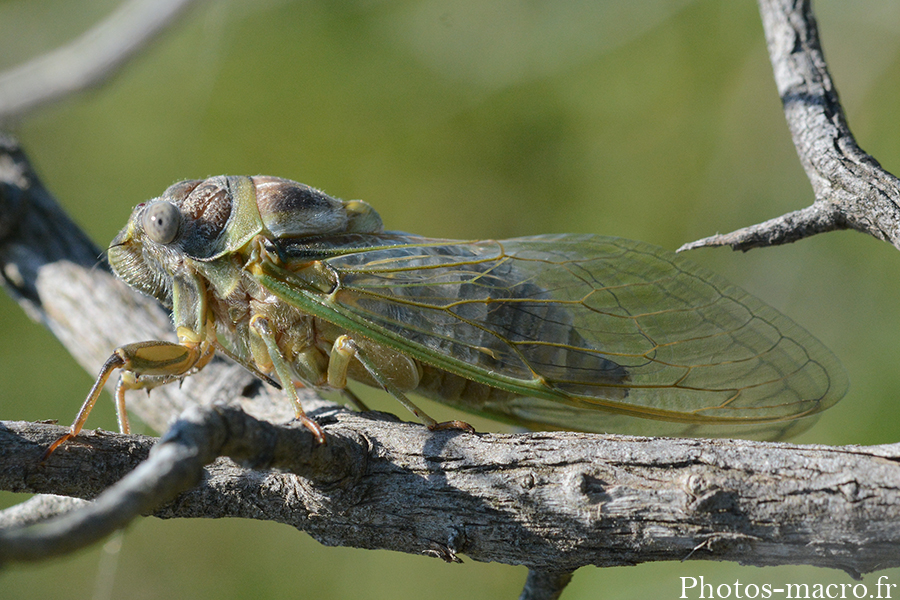
[[[405, 389], [414, 389], [418, 385], [418, 369], [412, 359], [385, 349], [384, 352], [390, 355], [389, 360], [378, 361], [379, 347], [375, 346], [371, 350], [372, 355], [360, 348], [360, 345], [349, 335], [338, 336], [332, 345], [331, 357], [328, 361], [328, 385], [339, 390], [345, 389], [350, 365], [353, 360], [357, 360], [378, 385], [414, 414], [428, 429], [432, 431], [461, 429], [469, 433], [475, 432], [475, 428], [465, 421], [454, 420], [439, 423], [413, 404], [412, 400], [406, 396], [396, 382], [403, 382], [401, 385]], [[397, 364], [397, 359], [400, 359], [400, 365]], [[388, 364], [378, 364], [379, 362], [393, 364], [389, 366]], [[387, 374], [388, 372], [390, 375]]]

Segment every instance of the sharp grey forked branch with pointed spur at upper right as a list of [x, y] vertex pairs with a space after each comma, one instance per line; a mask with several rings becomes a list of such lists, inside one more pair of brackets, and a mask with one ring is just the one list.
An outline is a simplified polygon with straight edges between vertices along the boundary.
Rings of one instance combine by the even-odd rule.
[[750, 250], [855, 229], [900, 248], [900, 180], [863, 152], [828, 72], [810, 0], [759, 0], [788, 127], [815, 194], [803, 210], [679, 248]]

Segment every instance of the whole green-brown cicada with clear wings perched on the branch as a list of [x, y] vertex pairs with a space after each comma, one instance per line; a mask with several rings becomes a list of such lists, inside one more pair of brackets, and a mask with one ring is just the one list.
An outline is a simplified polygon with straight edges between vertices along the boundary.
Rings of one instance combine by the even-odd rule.
[[216, 350], [280, 385], [320, 440], [295, 382], [384, 388], [430, 428], [447, 424], [407, 393], [529, 426], [629, 432], [650, 419], [659, 435], [750, 437], [795, 431], [847, 388], [808, 332], [661, 248], [386, 232], [365, 202], [275, 177], [171, 186], [135, 207], [109, 262], [171, 308], [179, 342], [118, 348], [51, 451], [114, 370], [127, 431], [126, 390], [184, 377]]

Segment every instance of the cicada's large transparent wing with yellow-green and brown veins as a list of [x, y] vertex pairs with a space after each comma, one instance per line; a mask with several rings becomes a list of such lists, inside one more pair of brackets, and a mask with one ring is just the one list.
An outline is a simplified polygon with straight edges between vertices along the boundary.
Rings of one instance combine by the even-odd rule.
[[452, 377], [423, 390], [467, 409], [589, 431], [632, 431], [641, 417], [677, 424], [656, 434], [771, 437], [846, 392], [840, 363], [807, 331], [662, 248], [594, 235], [367, 243], [381, 245], [315, 249], [340, 280], [326, 308], [508, 392], [473, 403]]

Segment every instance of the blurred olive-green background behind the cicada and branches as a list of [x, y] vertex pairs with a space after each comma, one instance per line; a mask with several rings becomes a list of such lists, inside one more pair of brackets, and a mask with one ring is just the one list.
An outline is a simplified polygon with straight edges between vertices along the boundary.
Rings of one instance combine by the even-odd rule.
[[[116, 5], [0, 0], [0, 69]], [[900, 172], [900, 4], [815, 8], [851, 128]], [[210, 0], [102, 88], [9, 129], [101, 246], [134, 204], [223, 173], [362, 198], [388, 228], [429, 236], [594, 232], [671, 249], [812, 200], [752, 0]], [[839, 232], [690, 257], [794, 318], [846, 366], [849, 395], [797, 441], [900, 440], [900, 253]], [[68, 423], [83, 399], [72, 390], [86, 392], [93, 374], [5, 296], [0, 340], [0, 418]], [[114, 430], [112, 403], [88, 426]], [[0, 493], [0, 506], [23, 499]], [[866, 582], [880, 574], [900, 583], [900, 570]], [[584, 568], [563, 598], [677, 598], [679, 577], [700, 575], [852, 581], [691, 561]], [[271, 523], [143, 519], [105, 549], [7, 568], [0, 596], [515, 598], [524, 578], [521, 567], [325, 548]]]

